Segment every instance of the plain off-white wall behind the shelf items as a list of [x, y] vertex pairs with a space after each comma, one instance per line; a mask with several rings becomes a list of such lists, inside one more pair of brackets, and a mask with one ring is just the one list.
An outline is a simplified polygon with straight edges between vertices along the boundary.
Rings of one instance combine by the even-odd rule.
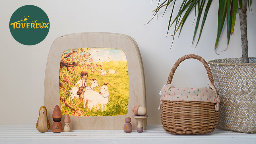
[[[162, 18], [161, 11], [151, 20], [158, 1], [109, 0], [109, 1], [63, 1], [63, 0], [0, 0], [0, 48], [1, 48], [1, 100], [0, 124], [35, 124], [38, 110], [44, 104], [44, 75], [48, 52], [52, 42], [59, 36], [80, 32], [112, 32], [133, 37], [141, 52], [145, 80], [148, 124], [160, 124], [158, 95], [166, 84], [169, 72], [181, 56], [197, 54], [205, 60], [241, 57], [239, 19], [234, 36], [226, 51], [226, 29], [220, 40], [217, 55], [214, 52], [217, 28], [218, 1], [212, 2], [201, 41], [191, 46], [194, 14], [187, 19], [179, 38], [176, 36], [172, 49], [172, 36], [167, 36], [169, 9]], [[18, 43], [9, 30], [13, 12], [24, 5], [35, 5], [49, 17], [48, 36], [39, 44], [27, 46]], [[256, 54], [255, 2], [253, 15], [248, 16], [249, 57]], [[177, 9], [176, 11], [177, 12]], [[151, 22], [149, 22], [151, 20]], [[149, 22], [148, 24], [146, 24]], [[176, 87], [207, 86], [206, 71], [196, 60], [181, 63], [172, 84]]]

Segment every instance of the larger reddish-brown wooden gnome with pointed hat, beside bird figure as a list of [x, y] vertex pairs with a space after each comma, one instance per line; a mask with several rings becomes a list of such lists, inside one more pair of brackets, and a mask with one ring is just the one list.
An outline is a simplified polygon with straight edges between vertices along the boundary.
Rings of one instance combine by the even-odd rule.
[[59, 108], [59, 105], [56, 105], [53, 112], [52, 112], [52, 118], [53, 118], [53, 124], [51, 131], [54, 133], [62, 132], [62, 124], [61, 124], [61, 110]]

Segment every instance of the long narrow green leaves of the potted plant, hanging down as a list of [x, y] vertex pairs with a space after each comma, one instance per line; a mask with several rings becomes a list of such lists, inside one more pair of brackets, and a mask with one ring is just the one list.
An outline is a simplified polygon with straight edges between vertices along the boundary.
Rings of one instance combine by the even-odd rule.
[[[206, 2], [207, 2], [207, 5], [205, 7], [204, 5]], [[181, 3], [181, 6], [179, 7], [178, 13], [175, 15], [174, 20], [172, 20], [173, 15], [174, 15], [174, 7], [176, 7], [176, 0], [165, 0], [161, 4], [158, 3], [157, 9], [155, 10], [155, 15], [163, 7], [165, 7], [164, 12], [166, 12], [166, 10], [168, 9], [168, 6], [171, 3], [173, 3], [172, 13], [170, 15], [170, 20], [168, 23], [168, 32], [169, 32], [170, 26], [172, 26], [175, 23], [174, 34], [172, 35], [173, 36], [172, 43], [173, 43], [175, 34], [177, 33], [178, 30], [180, 30], [179, 35], [181, 34], [181, 30], [185, 24], [185, 21], [187, 20], [187, 17], [189, 16], [189, 14], [191, 12], [193, 12], [193, 10], [195, 10], [195, 13], [196, 13], [195, 18], [197, 15], [197, 20], [196, 20], [195, 30], [194, 30], [194, 34], [193, 34], [193, 41], [192, 41], [192, 44], [193, 44], [195, 41], [196, 33], [199, 29], [201, 15], [204, 13], [203, 20], [201, 21], [199, 37], [197, 39], [197, 44], [198, 44], [201, 34], [202, 34], [202, 30], [203, 30], [206, 18], [207, 18], [208, 11], [210, 9], [211, 2], [212, 2], [212, 0], [208, 0], [208, 1], [207, 0], [183, 0]], [[238, 3], [239, 3], [239, 5], [238, 5]], [[247, 0], [247, 3], [248, 3], [249, 9], [251, 9], [252, 0]], [[204, 7], [205, 7], [205, 9], [204, 9]], [[239, 8], [242, 8], [242, 0], [219, 0], [217, 37], [216, 37], [215, 49], [214, 49], [215, 51], [216, 51], [216, 48], [219, 43], [219, 39], [222, 34], [225, 19], [226, 19], [226, 23], [227, 23], [227, 41], [228, 41], [227, 45], [229, 44], [230, 36], [234, 32], [237, 9], [239, 9]], [[167, 34], [168, 34], [168, 32], [167, 32]], [[196, 46], [197, 46], [197, 44], [196, 44]]]

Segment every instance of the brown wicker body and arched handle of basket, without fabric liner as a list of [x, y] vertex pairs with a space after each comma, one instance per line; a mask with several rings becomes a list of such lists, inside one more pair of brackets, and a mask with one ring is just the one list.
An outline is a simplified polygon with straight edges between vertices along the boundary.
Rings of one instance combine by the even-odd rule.
[[[201, 61], [207, 70], [211, 84], [214, 84], [210, 67], [207, 62], [198, 55], [185, 55], [177, 60], [169, 74], [167, 84], [171, 84], [175, 70], [179, 64], [186, 59], [197, 59]], [[207, 134], [212, 132], [218, 124], [219, 111], [216, 111], [214, 108], [216, 103], [201, 101], [160, 102], [162, 103], [160, 104], [162, 126], [168, 133], [180, 135]]]

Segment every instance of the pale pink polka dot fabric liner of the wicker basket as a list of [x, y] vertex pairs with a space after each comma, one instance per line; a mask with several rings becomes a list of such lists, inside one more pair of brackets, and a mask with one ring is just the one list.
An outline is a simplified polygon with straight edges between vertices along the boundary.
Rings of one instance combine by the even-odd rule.
[[220, 101], [218, 95], [216, 95], [217, 91], [210, 82], [209, 85], [213, 89], [209, 89], [207, 87], [177, 88], [171, 84], [165, 84], [161, 89], [161, 92], [159, 93], [160, 95], [162, 95], [162, 97], [160, 98], [160, 105], [158, 109], [161, 109], [162, 101], [199, 101], [217, 103], [215, 106], [215, 110], [218, 110], [218, 105]]

